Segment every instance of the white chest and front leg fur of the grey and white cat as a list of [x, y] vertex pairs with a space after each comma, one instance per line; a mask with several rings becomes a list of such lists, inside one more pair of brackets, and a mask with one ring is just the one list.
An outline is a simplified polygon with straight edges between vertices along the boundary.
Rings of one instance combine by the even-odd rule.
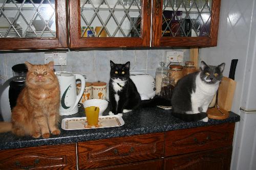
[[207, 108], [214, 98], [216, 91], [219, 87], [219, 82], [216, 84], [207, 84], [200, 79], [200, 74], [196, 77], [196, 91], [191, 94], [191, 104], [194, 113], [200, 112], [199, 107], [203, 109], [203, 112], [207, 111]]

